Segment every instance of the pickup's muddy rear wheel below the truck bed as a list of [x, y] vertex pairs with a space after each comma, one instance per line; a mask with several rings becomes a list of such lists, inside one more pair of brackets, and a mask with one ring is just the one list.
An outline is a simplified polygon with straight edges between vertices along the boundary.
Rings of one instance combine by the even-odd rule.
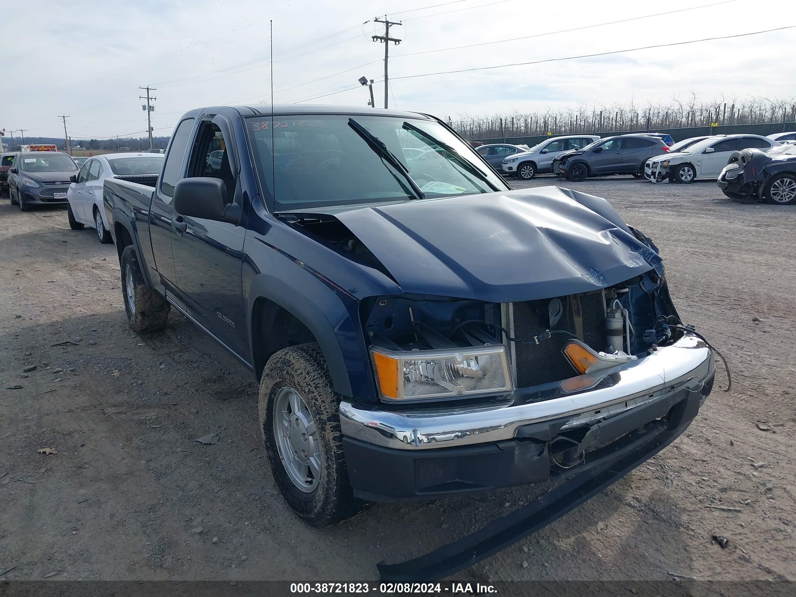
[[145, 334], [162, 330], [169, 317], [170, 304], [146, 285], [135, 248], [127, 246], [120, 260], [122, 296], [127, 322], [134, 332]]

